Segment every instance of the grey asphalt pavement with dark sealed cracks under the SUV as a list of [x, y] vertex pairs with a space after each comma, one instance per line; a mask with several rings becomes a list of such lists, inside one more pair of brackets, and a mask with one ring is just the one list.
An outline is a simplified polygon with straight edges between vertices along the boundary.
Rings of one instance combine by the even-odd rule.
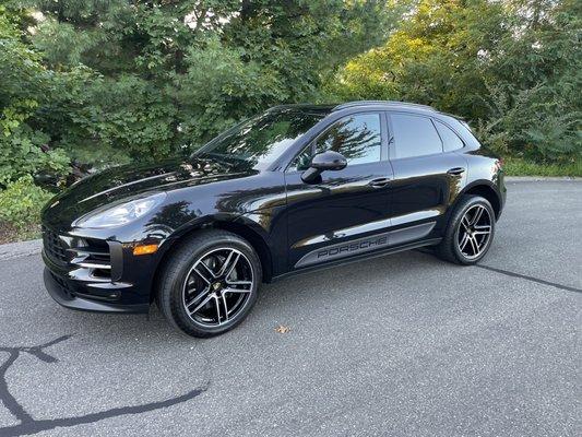
[[0, 436], [580, 435], [581, 225], [581, 182], [510, 184], [479, 267], [288, 279], [205, 341], [62, 309], [38, 255], [0, 261]]

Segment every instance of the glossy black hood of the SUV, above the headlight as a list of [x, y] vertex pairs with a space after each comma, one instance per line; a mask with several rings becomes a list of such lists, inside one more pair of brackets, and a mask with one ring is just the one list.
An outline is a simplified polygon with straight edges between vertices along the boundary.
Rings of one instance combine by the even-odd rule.
[[43, 224], [52, 228], [69, 228], [74, 220], [97, 208], [146, 192], [170, 191], [256, 173], [251, 168], [235, 167], [214, 160], [166, 161], [114, 167], [81, 179], [52, 198], [43, 209]]

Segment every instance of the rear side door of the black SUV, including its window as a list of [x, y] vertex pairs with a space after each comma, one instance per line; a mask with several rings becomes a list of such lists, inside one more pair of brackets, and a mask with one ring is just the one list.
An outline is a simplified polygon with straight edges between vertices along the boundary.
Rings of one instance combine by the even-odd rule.
[[[408, 228], [391, 245], [426, 237], [444, 225], [443, 217], [466, 179], [465, 158], [455, 152], [462, 141], [442, 122], [413, 113], [389, 113], [391, 184], [390, 217], [394, 227]], [[448, 130], [446, 130], [448, 129]], [[439, 131], [442, 130], [442, 133]], [[455, 144], [452, 133], [461, 144]], [[442, 135], [442, 138], [441, 138]]]

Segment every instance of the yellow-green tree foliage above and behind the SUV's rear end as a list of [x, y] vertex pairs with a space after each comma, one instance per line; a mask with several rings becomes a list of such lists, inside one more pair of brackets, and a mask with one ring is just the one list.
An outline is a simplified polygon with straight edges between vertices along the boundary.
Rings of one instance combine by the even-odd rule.
[[343, 98], [461, 115], [502, 155], [582, 158], [582, 2], [423, 0], [381, 47], [349, 61]]

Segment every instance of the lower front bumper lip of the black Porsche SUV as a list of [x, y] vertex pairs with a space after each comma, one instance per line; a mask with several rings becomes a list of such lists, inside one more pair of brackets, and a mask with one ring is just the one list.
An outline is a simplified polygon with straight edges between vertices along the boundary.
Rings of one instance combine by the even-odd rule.
[[150, 310], [149, 302], [136, 305], [119, 305], [99, 302], [95, 297], [84, 297], [82, 293], [79, 293], [79, 290], [73, 291], [67, 285], [68, 280], [59, 277], [47, 267], [45, 267], [44, 280], [50, 297], [66, 308], [97, 312], [147, 312]]

